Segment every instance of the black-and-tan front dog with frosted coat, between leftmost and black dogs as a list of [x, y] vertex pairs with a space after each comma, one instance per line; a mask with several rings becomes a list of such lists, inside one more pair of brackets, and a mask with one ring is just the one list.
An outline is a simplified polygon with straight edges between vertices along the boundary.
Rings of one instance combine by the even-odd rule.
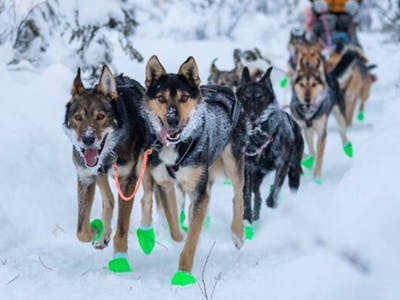
[[[189, 57], [178, 73], [168, 74], [156, 56], [146, 67], [145, 114], [156, 149], [150, 160], [155, 194], [162, 203], [171, 236], [181, 241], [175, 187], [189, 196], [189, 231], [173, 285], [189, 285], [200, 232], [207, 214], [216, 172], [223, 168], [234, 189], [232, 236], [236, 248], [244, 242], [243, 185], [246, 122], [231, 89], [200, 86], [199, 71]], [[149, 180], [146, 180], [149, 183]], [[151, 182], [150, 182], [151, 184]], [[151, 198], [142, 203], [151, 226]]]

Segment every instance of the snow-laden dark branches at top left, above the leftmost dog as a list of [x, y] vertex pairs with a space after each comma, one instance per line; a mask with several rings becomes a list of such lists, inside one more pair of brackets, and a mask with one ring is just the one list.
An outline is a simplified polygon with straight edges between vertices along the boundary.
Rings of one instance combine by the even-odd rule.
[[[94, 11], [93, 5], [99, 9]], [[132, 43], [137, 25], [134, 6], [127, 0], [40, 2], [18, 25], [14, 58], [9, 64], [16, 67], [28, 61], [40, 68], [46, 65], [52, 44], [61, 43], [60, 55], [68, 57], [71, 68], [80, 66], [93, 78], [103, 64], [112, 65], [115, 47], [132, 60], [143, 60]]]

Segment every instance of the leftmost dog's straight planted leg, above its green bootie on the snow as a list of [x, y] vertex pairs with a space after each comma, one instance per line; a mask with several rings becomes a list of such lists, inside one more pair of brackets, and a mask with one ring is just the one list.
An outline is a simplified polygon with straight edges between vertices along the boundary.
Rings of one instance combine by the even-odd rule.
[[[132, 194], [136, 185], [136, 176], [129, 174], [120, 179], [120, 186], [124, 195]], [[125, 201], [118, 196], [118, 221], [117, 231], [114, 236], [114, 253], [127, 253], [128, 251], [128, 233], [131, 219], [133, 200]]]

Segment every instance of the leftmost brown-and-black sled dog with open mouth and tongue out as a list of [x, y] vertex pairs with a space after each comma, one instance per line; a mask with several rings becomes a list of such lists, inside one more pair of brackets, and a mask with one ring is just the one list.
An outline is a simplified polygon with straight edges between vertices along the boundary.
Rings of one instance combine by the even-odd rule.
[[[144, 89], [138, 82], [124, 76], [114, 78], [107, 66], [103, 67], [94, 88], [84, 87], [79, 70], [73, 82], [64, 127], [73, 145], [77, 171], [77, 236], [82, 242], [92, 242], [96, 249], [105, 248], [111, 238], [114, 197], [108, 173], [112, 164], [119, 166], [121, 189], [125, 194], [130, 194], [136, 184], [136, 169], [148, 136], [140, 113], [143, 94]], [[96, 186], [103, 200], [102, 222], [91, 223]], [[123, 260], [125, 271], [130, 269], [126, 253], [132, 204], [118, 199], [114, 254], [120, 262]], [[99, 223], [104, 224], [104, 234]], [[114, 271], [112, 262], [110, 269]]]

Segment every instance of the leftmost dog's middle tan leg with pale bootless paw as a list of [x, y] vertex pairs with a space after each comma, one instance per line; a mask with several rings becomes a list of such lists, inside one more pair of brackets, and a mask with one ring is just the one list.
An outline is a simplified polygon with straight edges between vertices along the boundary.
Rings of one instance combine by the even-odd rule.
[[103, 200], [102, 220], [104, 224], [104, 238], [96, 241], [94, 247], [103, 249], [108, 246], [111, 237], [111, 219], [114, 211], [114, 196], [108, 182], [107, 174], [100, 175], [96, 179], [97, 186], [100, 189], [101, 198]]

